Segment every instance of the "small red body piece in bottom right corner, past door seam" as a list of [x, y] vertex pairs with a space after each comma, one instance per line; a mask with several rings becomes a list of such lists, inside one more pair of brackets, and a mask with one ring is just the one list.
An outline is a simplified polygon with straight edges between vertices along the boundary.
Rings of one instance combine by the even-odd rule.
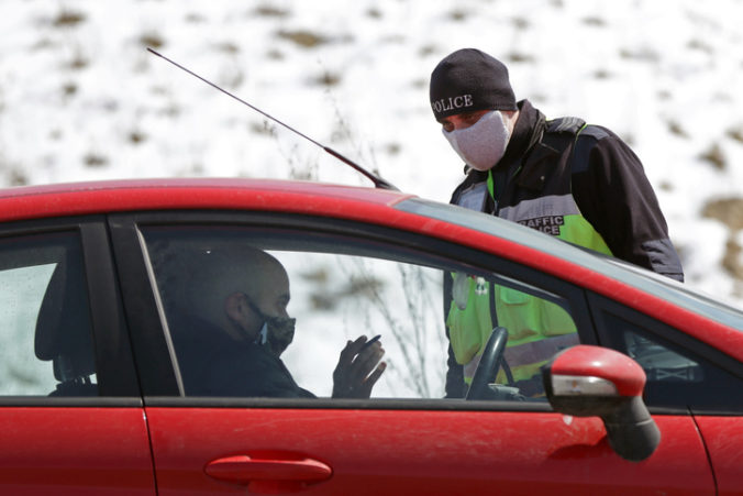
[[718, 495], [743, 495], [743, 422], [740, 417], [697, 417], [714, 467]]

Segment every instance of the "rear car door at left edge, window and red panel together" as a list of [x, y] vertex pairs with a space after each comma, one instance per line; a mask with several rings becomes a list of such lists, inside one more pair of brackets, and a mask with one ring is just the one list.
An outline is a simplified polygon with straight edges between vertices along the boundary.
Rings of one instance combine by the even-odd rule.
[[0, 230], [0, 494], [155, 494], [102, 218]]

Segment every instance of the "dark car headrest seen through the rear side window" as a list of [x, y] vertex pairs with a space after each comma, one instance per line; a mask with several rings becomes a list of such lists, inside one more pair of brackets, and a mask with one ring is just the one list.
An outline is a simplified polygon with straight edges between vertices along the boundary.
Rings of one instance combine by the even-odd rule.
[[46, 287], [36, 319], [36, 357], [53, 361], [59, 382], [96, 373], [85, 278], [79, 262], [60, 262]]

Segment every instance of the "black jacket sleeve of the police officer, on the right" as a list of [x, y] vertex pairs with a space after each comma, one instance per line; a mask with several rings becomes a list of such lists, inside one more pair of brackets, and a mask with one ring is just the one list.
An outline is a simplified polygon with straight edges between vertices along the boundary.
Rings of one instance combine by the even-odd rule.
[[618, 258], [684, 280], [681, 263], [642, 164], [611, 131], [587, 126], [573, 159], [573, 195]]

